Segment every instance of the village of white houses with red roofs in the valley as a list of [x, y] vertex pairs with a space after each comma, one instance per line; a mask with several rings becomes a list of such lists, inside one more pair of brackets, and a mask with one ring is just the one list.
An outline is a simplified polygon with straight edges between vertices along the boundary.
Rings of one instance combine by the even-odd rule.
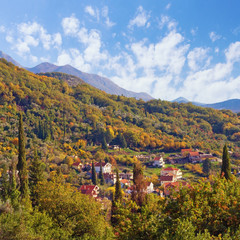
[[[171, 190], [178, 190], [182, 186], [190, 187], [191, 182], [186, 177], [183, 177], [181, 169], [175, 167], [179, 164], [202, 164], [203, 161], [209, 159], [211, 162], [221, 163], [221, 159], [214, 157], [212, 154], [205, 154], [197, 149], [181, 149], [181, 152], [169, 154], [164, 157], [164, 153], [151, 154], [151, 155], [135, 155], [135, 157], [143, 164], [146, 169], [156, 169], [158, 171], [158, 179], [154, 183], [151, 181], [150, 176], [145, 176], [147, 194], [156, 194], [160, 197], [168, 197]], [[91, 164], [82, 164], [81, 161], [76, 161], [72, 164], [72, 168], [76, 171], [84, 172], [91, 179], [92, 166]], [[115, 167], [109, 162], [95, 162], [94, 168], [99, 178], [102, 171], [104, 183], [109, 186], [107, 189], [113, 190], [113, 186], [117, 181]], [[122, 169], [122, 168], [120, 168]], [[133, 190], [133, 173], [130, 170], [122, 169], [119, 173], [119, 180], [121, 188], [126, 197], [131, 196]], [[106, 188], [105, 188], [106, 190]], [[112, 194], [105, 194], [101, 191], [99, 184], [82, 184], [79, 188], [82, 194], [89, 195], [97, 201], [112, 200]]]

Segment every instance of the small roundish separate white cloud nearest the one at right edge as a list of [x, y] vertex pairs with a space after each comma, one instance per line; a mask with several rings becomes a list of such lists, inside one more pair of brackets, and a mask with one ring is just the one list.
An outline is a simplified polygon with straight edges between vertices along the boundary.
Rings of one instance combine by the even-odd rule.
[[192, 71], [205, 68], [210, 64], [211, 57], [208, 56], [209, 49], [207, 48], [194, 48], [188, 53], [188, 66]]

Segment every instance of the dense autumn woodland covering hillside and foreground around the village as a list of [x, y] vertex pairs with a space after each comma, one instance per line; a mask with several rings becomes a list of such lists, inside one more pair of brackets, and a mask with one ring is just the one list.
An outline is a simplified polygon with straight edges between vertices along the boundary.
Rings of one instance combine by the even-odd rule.
[[[126, 154], [198, 148], [221, 158], [227, 142], [237, 168], [238, 114], [109, 95], [74, 76], [46, 75], [0, 60], [0, 239], [240, 238], [236, 177], [220, 178], [219, 167], [169, 198], [141, 195], [141, 163]], [[91, 180], [70, 168], [75, 157], [134, 166], [137, 194], [126, 199], [116, 184], [112, 210], [103, 209], [77, 190]]]

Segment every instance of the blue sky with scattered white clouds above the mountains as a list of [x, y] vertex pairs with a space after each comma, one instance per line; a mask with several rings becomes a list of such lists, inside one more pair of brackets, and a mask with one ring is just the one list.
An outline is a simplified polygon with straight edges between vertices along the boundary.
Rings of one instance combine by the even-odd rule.
[[240, 98], [239, 0], [9, 0], [0, 50], [162, 100]]

